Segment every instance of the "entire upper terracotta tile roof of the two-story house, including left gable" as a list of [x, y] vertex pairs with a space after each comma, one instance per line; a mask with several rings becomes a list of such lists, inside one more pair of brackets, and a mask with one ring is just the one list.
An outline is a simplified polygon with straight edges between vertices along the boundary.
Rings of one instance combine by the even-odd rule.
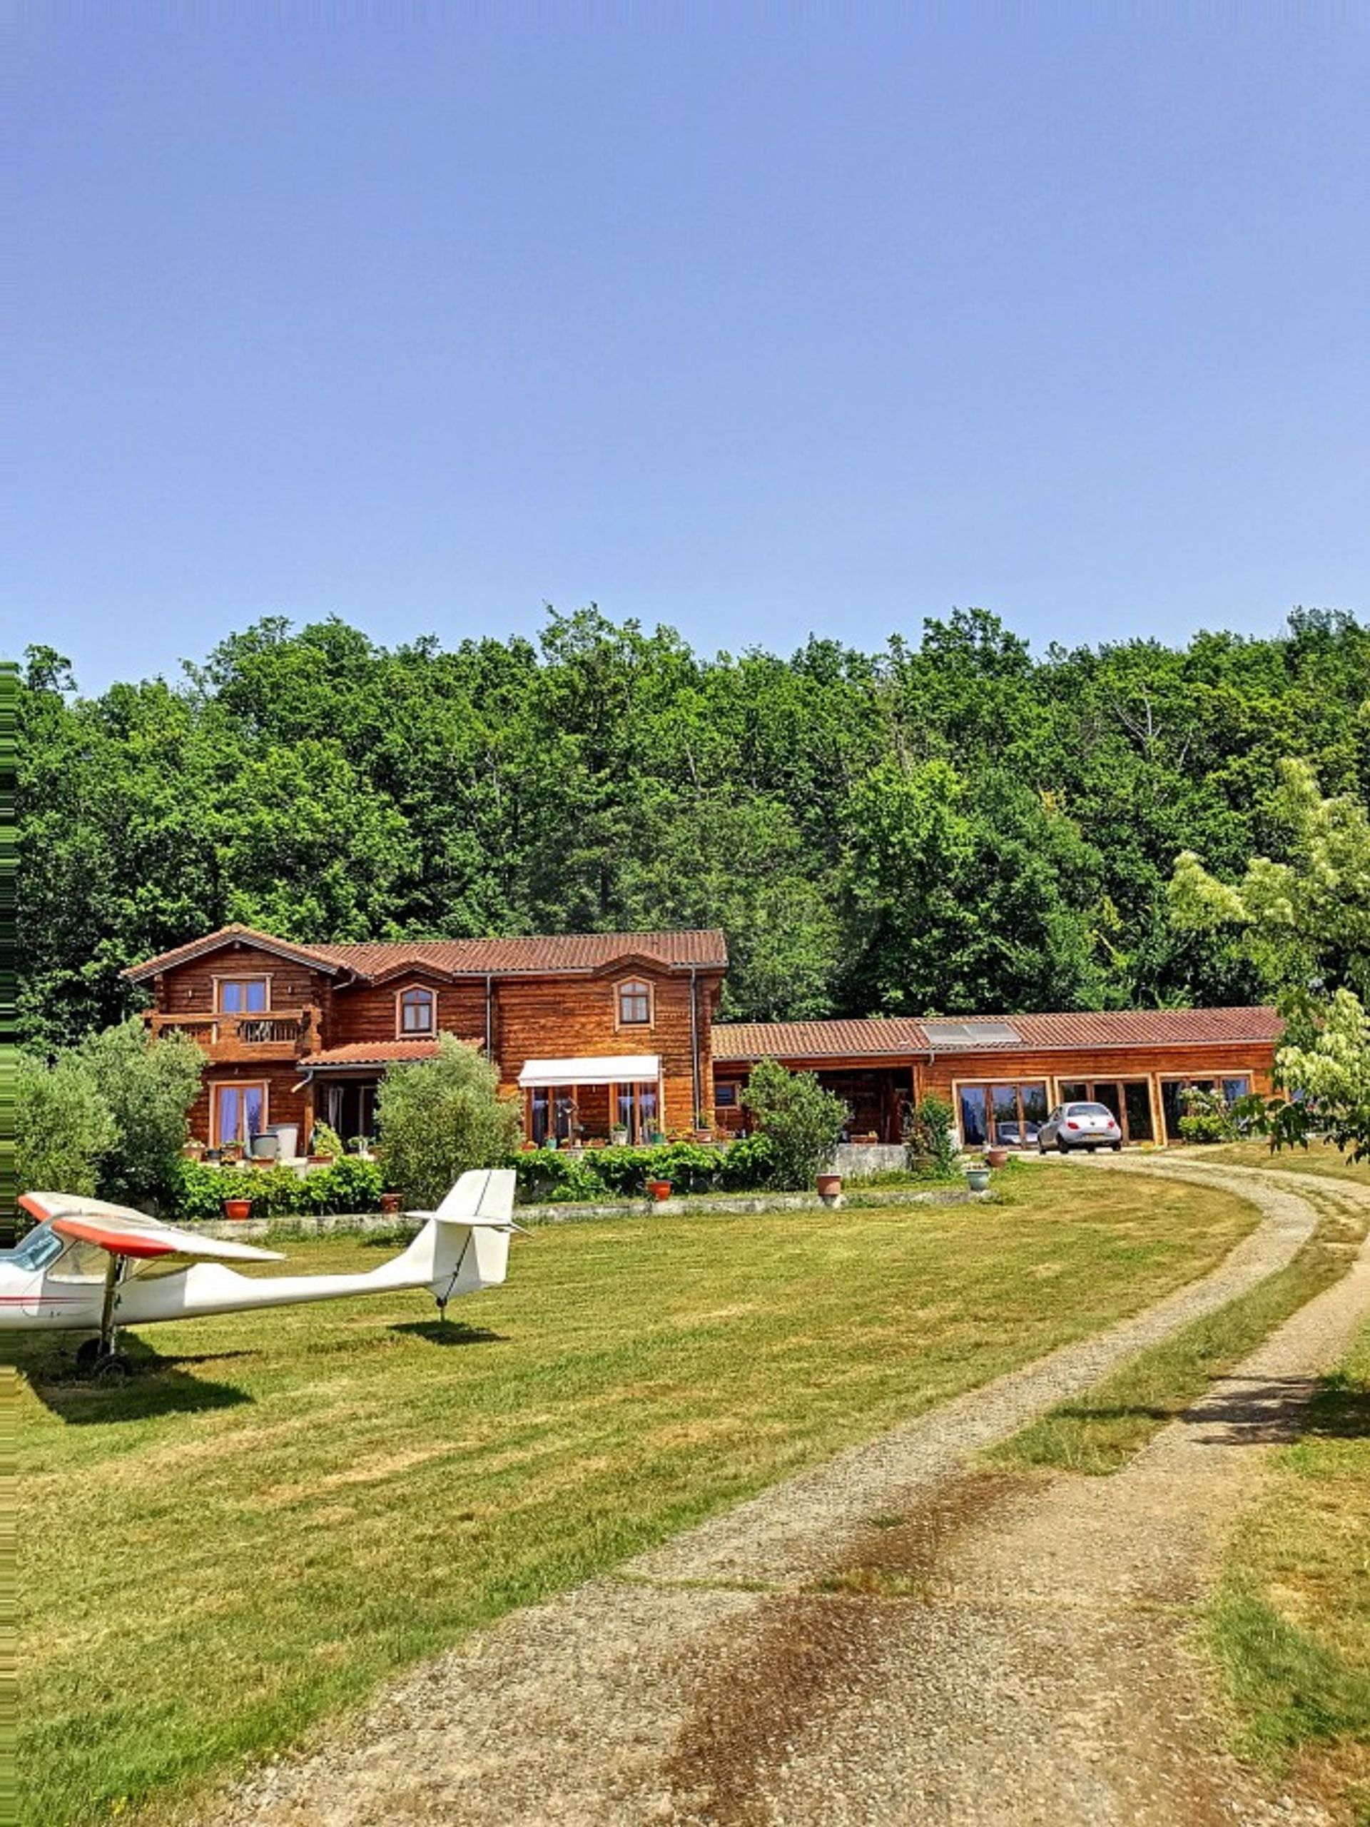
[[393, 976], [396, 970], [427, 966], [444, 974], [497, 976], [543, 972], [585, 972], [614, 965], [621, 957], [641, 957], [654, 965], [700, 965], [727, 968], [727, 941], [718, 928], [690, 932], [568, 932], [515, 939], [404, 939], [391, 945], [296, 945], [254, 926], [221, 926], [190, 939], [157, 957], [130, 965], [124, 972], [135, 983], [203, 957], [219, 946], [241, 941], [259, 945], [278, 957], [314, 965], [336, 976], [353, 970], [360, 977]]

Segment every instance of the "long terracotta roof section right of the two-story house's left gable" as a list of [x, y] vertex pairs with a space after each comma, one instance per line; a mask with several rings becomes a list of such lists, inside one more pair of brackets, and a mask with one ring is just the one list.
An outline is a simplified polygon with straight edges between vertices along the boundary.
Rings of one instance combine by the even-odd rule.
[[364, 977], [429, 965], [444, 972], [599, 970], [619, 957], [654, 965], [727, 965], [727, 941], [716, 928], [694, 932], [563, 932], [515, 939], [406, 939], [398, 945], [314, 945], [318, 957]]

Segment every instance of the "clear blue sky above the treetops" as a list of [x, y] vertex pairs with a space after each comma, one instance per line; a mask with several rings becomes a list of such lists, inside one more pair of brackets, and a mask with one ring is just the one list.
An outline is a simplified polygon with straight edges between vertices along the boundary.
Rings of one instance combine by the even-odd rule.
[[33, 7], [13, 614], [1370, 612], [1370, 11]]

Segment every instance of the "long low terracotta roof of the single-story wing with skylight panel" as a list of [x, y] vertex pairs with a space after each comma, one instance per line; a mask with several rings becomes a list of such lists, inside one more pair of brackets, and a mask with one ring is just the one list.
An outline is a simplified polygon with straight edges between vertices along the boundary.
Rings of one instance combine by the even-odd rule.
[[[932, 1018], [930, 1018], [932, 1019]], [[1206, 1047], [1279, 1040], [1273, 1009], [1118, 1009], [1043, 1016], [948, 1016], [963, 1038], [937, 1040], [941, 1052], [1036, 1052], [1065, 1047]], [[981, 1040], [975, 1027], [985, 1027]], [[1017, 1040], [1001, 1030], [1012, 1029]], [[937, 1032], [933, 1029], [933, 1032]], [[840, 1060], [926, 1056], [928, 1030], [910, 1016], [888, 1021], [736, 1021], [712, 1030], [714, 1060]]]

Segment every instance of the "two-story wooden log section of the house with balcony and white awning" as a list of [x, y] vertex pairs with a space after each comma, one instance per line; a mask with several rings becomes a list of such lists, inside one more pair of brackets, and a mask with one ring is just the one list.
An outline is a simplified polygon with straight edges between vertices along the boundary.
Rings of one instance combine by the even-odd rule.
[[153, 1032], [205, 1049], [190, 1127], [219, 1147], [281, 1124], [303, 1144], [316, 1120], [371, 1135], [385, 1067], [438, 1034], [484, 1051], [535, 1142], [690, 1129], [725, 970], [722, 932], [296, 945], [225, 926], [124, 976], [152, 990]]

